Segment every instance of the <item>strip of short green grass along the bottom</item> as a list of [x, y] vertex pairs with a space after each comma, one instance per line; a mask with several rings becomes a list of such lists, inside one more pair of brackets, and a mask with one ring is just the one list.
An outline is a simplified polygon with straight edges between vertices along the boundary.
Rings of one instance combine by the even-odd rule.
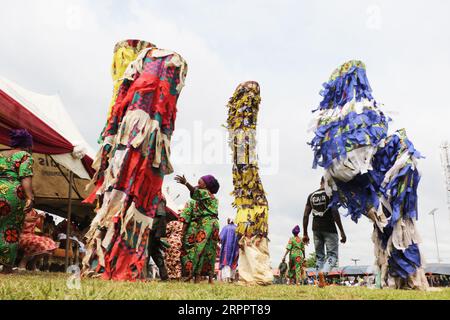
[[104, 281], [100, 279], [83, 279], [81, 280], [80, 289], [69, 289], [66, 284], [68, 278], [69, 275], [55, 273], [0, 275], [0, 300], [450, 300], [449, 288], [419, 292], [347, 287], [326, 287], [324, 289], [320, 289], [311, 286], [287, 285], [246, 287], [219, 282], [213, 286], [210, 286], [207, 283], [201, 283], [198, 285], [178, 282], [160, 283], [158, 281], [131, 283]]

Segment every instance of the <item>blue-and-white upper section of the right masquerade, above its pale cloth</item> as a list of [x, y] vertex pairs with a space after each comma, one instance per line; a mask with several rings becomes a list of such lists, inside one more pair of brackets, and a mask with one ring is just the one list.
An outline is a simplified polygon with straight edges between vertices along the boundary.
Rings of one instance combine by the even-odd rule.
[[389, 119], [372, 97], [366, 68], [360, 61], [349, 61], [336, 69], [320, 92], [323, 100], [315, 118], [313, 167], [328, 169], [333, 160], [362, 147], [376, 147], [387, 136]]

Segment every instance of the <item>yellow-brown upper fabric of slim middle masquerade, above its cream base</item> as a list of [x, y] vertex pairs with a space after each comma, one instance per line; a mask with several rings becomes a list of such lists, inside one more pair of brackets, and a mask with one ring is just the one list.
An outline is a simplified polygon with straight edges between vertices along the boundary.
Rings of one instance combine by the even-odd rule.
[[268, 203], [258, 174], [256, 124], [261, 102], [259, 84], [241, 83], [228, 102], [227, 128], [233, 150], [233, 185], [231, 193], [237, 208], [236, 232], [242, 236], [267, 237]]

